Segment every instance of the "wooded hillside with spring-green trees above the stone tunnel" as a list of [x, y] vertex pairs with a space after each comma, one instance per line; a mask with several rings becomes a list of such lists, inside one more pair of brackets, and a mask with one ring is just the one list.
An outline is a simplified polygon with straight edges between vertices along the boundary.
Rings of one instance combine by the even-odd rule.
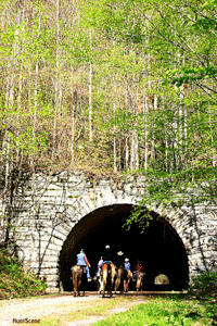
[[0, 13], [1, 230], [40, 172], [143, 174], [143, 205], [216, 203], [216, 0], [2, 0]]

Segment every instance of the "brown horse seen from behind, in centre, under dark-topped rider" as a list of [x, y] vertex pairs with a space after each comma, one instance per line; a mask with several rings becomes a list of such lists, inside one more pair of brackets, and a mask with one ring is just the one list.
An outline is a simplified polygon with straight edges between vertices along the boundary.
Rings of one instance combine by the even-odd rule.
[[105, 297], [105, 291], [107, 291], [110, 298], [112, 297], [112, 290], [115, 279], [115, 265], [114, 264], [103, 264], [101, 268], [101, 279], [102, 279], [102, 297]]

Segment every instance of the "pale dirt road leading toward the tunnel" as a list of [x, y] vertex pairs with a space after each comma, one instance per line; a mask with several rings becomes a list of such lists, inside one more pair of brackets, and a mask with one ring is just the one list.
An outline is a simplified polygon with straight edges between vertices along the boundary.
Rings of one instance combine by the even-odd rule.
[[44, 296], [0, 301], [0, 325], [91, 325], [99, 319], [145, 302], [143, 296], [124, 294], [102, 299], [98, 293]]

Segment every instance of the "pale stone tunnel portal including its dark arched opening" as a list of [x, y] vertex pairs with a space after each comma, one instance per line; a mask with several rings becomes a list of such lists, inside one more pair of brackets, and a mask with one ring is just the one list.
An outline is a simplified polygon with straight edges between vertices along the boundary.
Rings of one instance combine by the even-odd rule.
[[153, 204], [150, 225], [141, 233], [136, 224], [129, 230], [123, 225], [143, 196], [142, 179], [62, 173], [40, 176], [38, 185], [37, 214], [33, 217], [28, 192], [23, 197], [26, 209], [17, 213], [18, 254], [51, 291], [72, 290], [71, 267], [80, 249], [93, 276], [105, 244], [111, 246], [114, 260], [117, 251], [124, 251], [132, 271], [137, 260], [142, 261], [146, 289], [153, 288], [158, 275], [168, 278], [170, 289], [184, 288], [197, 269], [217, 265], [216, 208], [209, 212], [197, 204], [192, 210], [184, 203], [179, 212], [163, 212]]

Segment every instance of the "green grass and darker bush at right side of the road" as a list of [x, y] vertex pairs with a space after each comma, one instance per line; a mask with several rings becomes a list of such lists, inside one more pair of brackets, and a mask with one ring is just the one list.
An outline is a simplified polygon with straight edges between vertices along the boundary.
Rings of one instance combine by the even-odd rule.
[[[196, 298], [196, 299], [195, 299]], [[217, 273], [192, 279], [189, 293], [158, 297], [94, 325], [217, 325]]]

